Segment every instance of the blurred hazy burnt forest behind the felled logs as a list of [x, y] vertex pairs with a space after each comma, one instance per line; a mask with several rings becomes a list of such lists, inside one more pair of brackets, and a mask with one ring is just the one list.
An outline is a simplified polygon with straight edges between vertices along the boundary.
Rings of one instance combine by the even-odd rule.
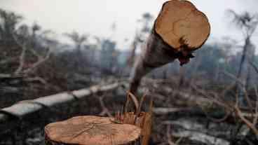
[[[79, 32], [63, 34], [64, 37], [71, 39], [73, 44], [62, 43], [53, 37], [55, 32], [52, 30], [43, 29], [36, 23], [32, 26], [25, 25], [22, 19], [24, 18], [21, 15], [1, 10], [0, 76], [3, 79], [6, 76], [24, 77], [23, 81], [27, 87], [22, 93], [29, 98], [85, 88], [109, 76], [128, 77], [137, 55], [136, 50], [140, 50], [144, 45], [153, 21], [151, 14], [143, 14], [138, 20], [142, 27], [136, 31], [131, 48], [121, 50], [117, 48], [116, 42], [109, 38], [97, 37], [94, 34], [93, 36], [79, 34]], [[95, 39], [95, 42], [89, 42], [88, 39]], [[180, 67], [175, 61], [156, 69], [149, 74], [149, 77], [183, 76], [186, 79], [199, 77], [203, 81], [229, 83], [231, 78], [225, 73], [233, 76], [239, 73], [244, 47], [239, 43], [243, 42], [237, 42], [229, 37], [224, 37], [222, 41], [206, 43], [186, 66]], [[244, 67], [242, 71], [248, 74], [247, 84], [252, 86], [257, 82], [255, 66], [258, 64], [258, 55], [255, 54], [252, 42], [248, 44], [247, 55], [254, 65]], [[1, 93], [20, 92], [15, 87], [2, 90]], [[4, 97], [1, 98], [3, 99], [1, 102], [4, 102]], [[13, 99], [15, 100], [15, 97]], [[16, 99], [11, 104], [17, 101]], [[11, 104], [3, 103], [1, 107]]]

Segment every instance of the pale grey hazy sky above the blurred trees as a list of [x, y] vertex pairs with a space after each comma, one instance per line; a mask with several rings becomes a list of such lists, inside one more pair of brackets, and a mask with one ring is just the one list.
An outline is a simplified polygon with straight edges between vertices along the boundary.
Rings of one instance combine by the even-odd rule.
[[[15, 11], [25, 17], [24, 22], [39, 23], [44, 29], [64, 32], [86, 33], [97, 36], [111, 36], [111, 25], [117, 28], [113, 39], [120, 48], [128, 46], [125, 38], [133, 39], [137, 19], [149, 12], [156, 17], [165, 0], [0, 0], [0, 8]], [[258, 12], [257, 0], [191, 0], [205, 13], [212, 27], [211, 40], [222, 36], [234, 36], [241, 41], [241, 35], [229, 24], [225, 11], [229, 8], [237, 13]], [[253, 41], [258, 39], [257, 33]], [[129, 41], [129, 42], [130, 42]]]

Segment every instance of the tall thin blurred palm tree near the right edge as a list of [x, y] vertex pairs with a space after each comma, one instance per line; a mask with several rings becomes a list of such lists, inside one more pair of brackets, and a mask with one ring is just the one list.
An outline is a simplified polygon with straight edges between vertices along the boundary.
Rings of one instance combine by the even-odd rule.
[[239, 102], [242, 106], [245, 106], [245, 91], [243, 90], [247, 89], [248, 81], [250, 81], [250, 62], [254, 61], [254, 47], [251, 42], [251, 37], [258, 25], [258, 15], [251, 15], [248, 12], [238, 14], [232, 10], [229, 10], [228, 13], [233, 16], [233, 24], [240, 29], [245, 39], [237, 74], [237, 78], [242, 82], [242, 84], [236, 83], [236, 91], [238, 92], [238, 99], [240, 100]]

